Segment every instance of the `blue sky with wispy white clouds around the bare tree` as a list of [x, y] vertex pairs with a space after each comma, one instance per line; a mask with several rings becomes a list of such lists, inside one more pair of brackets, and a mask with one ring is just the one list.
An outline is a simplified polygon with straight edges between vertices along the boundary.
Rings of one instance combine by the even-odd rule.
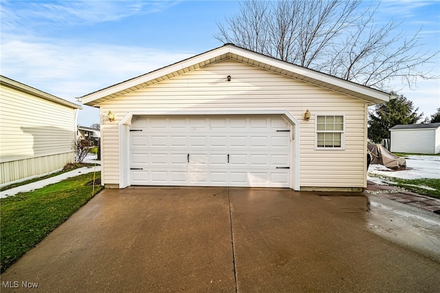
[[[365, 5], [369, 2], [365, 1]], [[0, 1], [1, 75], [75, 102], [75, 97], [151, 72], [223, 44], [216, 23], [236, 1]], [[440, 1], [384, 1], [376, 23], [404, 20], [421, 28], [423, 49], [440, 50]], [[422, 70], [440, 76], [440, 56]], [[440, 107], [440, 80], [396, 89], [430, 116]], [[83, 106], [78, 123], [99, 122]]]

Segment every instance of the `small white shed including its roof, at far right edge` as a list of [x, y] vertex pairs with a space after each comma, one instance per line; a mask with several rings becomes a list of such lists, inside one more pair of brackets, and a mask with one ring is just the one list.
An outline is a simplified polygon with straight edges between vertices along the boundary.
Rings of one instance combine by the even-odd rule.
[[440, 122], [396, 125], [390, 131], [392, 152], [440, 153]]

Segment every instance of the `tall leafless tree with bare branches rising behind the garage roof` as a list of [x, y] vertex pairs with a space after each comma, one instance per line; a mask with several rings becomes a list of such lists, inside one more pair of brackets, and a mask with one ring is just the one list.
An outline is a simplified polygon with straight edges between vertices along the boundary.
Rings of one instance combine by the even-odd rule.
[[439, 52], [422, 52], [419, 33], [397, 32], [400, 22], [377, 25], [380, 4], [361, 0], [242, 1], [239, 14], [217, 23], [214, 38], [377, 89], [401, 78], [438, 78], [419, 67]]

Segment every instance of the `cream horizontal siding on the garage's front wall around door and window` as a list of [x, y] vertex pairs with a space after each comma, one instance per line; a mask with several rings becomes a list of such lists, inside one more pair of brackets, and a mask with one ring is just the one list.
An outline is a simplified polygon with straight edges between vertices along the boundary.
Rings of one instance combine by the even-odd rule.
[[[228, 82], [226, 77], [232, 76]], [[300, 121], [300, 186], [366, 187], [366, 103], [328, 89], [226, 60], [100, 105], [103, 119], [102, 178], [119, 183], [118, 121], [129, 111], [287, 110]], [[302, 120], [309, 109], [311, 119]], [[315, 149], [315, 117], [345, 115], [345, 149]]]

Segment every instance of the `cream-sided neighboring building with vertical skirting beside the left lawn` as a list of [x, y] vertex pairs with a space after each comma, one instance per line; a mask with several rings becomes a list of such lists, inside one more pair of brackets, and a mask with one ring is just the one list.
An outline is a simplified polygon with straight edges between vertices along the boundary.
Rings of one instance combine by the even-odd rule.
[[74, 162], [79, 109], [83, 108], [0, 76], [0, 184]]

